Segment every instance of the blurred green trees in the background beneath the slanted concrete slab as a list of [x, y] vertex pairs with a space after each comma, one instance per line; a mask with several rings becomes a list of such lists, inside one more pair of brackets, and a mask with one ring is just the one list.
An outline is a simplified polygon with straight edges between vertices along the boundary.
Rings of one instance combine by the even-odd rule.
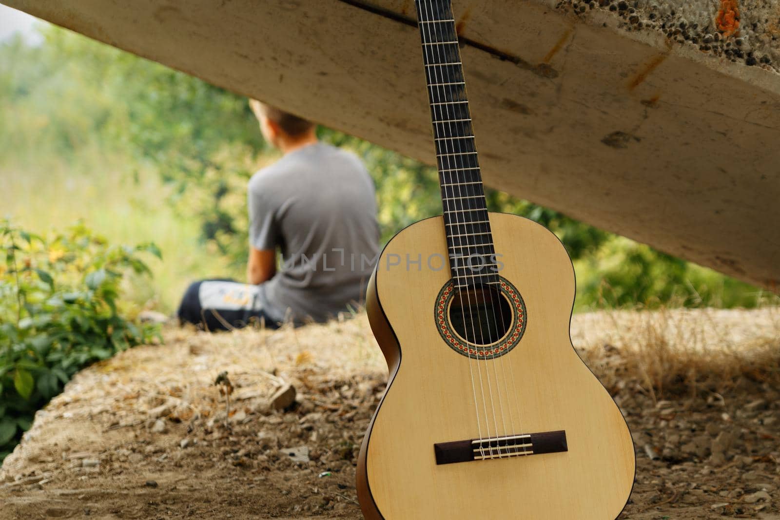
[[[0, 95], [12, 110], [0, 119], [0, 155], [36, 150], [72, 157], [90, 142], [131, 150], [137, 164], [152, 164], [175, 187], [170, 203], [200, 223], [209, 250], [243, 265], [246, 182], [278, 157], [261, 139], [246, 100], [65, 30], [44, 34], [40, 47], [16, 41], [0, 49]], [[363, 158], [377, 186], [383, 242], [441, 213], [434, 168], [331, 129], [319, 135]], [[488, 207], [531, 218], [558, 235], [576, 261], [579, 308], [760, 300], [749, 285], [506, 193], [490, 190]]]

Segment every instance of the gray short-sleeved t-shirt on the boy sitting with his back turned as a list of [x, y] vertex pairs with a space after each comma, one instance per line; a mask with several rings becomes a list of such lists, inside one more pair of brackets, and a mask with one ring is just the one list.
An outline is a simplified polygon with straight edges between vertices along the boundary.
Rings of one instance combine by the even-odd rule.
[[374, 183], [360, 159], [307, 145], [249, 182], [250, 245], [282, 249], [283, 264], [259, 299], [278, 320], [327, 320], [363, 302], [378, 256]]

